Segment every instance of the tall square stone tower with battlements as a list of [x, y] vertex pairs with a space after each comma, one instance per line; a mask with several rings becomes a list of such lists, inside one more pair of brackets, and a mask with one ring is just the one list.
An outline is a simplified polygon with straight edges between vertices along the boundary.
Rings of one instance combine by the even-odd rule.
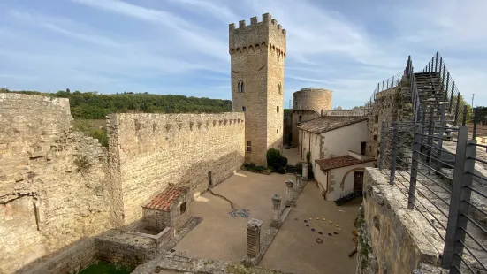
[[270, 14], [230, 24], [232, 111], [244, 111], [246, 162], [266, 165], [283, 148], [285, 29]]

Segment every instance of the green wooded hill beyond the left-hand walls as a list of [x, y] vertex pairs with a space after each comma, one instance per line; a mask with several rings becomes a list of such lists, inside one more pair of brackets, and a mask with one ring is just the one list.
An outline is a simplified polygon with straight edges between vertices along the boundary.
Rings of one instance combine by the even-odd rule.
[[106, 115], [115, 112], [218, 113], [232, 110], [230, 100], [186, 97], [185, 95], [149, 95], [147, 93], [99, 95], [96, 92], [70, 92], [69, 88], [57, 93], [11, 91], [5, 88], [1, 88], [0, 92], [69, 98], [72, 117], [83, 119], [104, 119]]

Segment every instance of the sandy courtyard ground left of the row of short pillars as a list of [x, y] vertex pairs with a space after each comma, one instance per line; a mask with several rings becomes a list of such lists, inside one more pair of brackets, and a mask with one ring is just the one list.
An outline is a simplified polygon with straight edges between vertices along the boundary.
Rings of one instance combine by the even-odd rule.
[[[251, 218], [263, 220], [263, 233], [270, 225], [272, 194], [280, 194], [285, 202], [285, 179], [291, 175], [270, 175], [239, 171], [215, 186], [215, 194], [230, 199], [235, 208], [247, 209], [249, 217], [231, 217], [230, 204], [209, 192], [191, 204], [191, 215], [202, 217], [202, 223], [189, 232], [174, 249], [187, 255], [239, 262], [246, 255], [247, 223]], [[262, 234], [263, 237], [263, 234]]]

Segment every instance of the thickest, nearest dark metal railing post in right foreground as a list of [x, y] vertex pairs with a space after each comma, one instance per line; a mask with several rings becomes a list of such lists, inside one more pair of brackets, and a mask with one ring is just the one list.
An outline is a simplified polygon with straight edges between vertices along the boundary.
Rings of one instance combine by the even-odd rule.
[[442, 267], [449, 269], [450, 273], [454, 274], [460, 274], [460, 256], [463, 254], [463, 243], [465, 242], [468, 202], [470, 202], [471, 194], [469, 187], [472, 187], [472, 174], [475, 171], [476, 147], [474, 144], [475, 141], [468, 141], [468, 127], [460, 126], [442, 259]]

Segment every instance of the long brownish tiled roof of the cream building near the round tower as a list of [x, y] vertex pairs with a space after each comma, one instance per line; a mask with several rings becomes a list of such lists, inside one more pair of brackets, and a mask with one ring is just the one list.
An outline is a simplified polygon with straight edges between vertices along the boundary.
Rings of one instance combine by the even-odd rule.
[[326, 133], [340, 127], [350, 126], [362, 121], [366, 121], [367, 118], [363, 116], [323, 116], [302, 123], [298, 128], [310, 133]]

